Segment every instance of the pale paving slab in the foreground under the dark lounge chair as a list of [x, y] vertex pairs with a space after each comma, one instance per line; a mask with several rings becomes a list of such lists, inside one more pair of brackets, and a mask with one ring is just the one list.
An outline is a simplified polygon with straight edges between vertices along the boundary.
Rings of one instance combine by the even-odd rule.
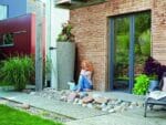
[[71, 121], [65, 125], [166, 125], [166, 114], [159, 112], [149, 117], [143, 117], [143, 110], [125, 113], [114, 113], [79, 121]]

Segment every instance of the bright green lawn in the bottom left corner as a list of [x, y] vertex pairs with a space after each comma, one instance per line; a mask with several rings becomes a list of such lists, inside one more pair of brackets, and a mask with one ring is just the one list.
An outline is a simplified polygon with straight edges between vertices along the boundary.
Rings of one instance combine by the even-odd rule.
[[0, 105], [0, 125], [63, 125], [39, 116]]

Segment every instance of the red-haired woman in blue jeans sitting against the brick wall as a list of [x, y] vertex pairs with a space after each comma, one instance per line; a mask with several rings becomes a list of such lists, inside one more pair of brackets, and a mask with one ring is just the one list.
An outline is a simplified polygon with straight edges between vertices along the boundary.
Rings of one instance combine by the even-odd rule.
[[92, 63], [84, 60], [82, 61], [82, 70], [79, 76], [77, 92], [80, 91], [91, 91], [93, 88], [92, 84], [92, 73], [93, 66]]

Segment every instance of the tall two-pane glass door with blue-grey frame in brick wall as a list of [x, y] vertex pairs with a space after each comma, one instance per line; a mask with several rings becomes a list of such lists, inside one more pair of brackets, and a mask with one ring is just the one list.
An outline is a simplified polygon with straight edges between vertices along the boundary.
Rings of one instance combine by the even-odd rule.
[[111, 18], [111, 88], [132, 92], [151, 54], [151, 13]]

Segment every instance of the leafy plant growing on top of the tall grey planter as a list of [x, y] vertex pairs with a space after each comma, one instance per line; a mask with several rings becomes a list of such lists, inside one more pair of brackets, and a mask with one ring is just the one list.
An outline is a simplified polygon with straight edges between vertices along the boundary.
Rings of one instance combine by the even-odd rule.
[[70, 22], [62, 24], [62, 32], [58, 37], [58, 42], [73, 42], [74, 35], [72, 34], [72, 24]]

